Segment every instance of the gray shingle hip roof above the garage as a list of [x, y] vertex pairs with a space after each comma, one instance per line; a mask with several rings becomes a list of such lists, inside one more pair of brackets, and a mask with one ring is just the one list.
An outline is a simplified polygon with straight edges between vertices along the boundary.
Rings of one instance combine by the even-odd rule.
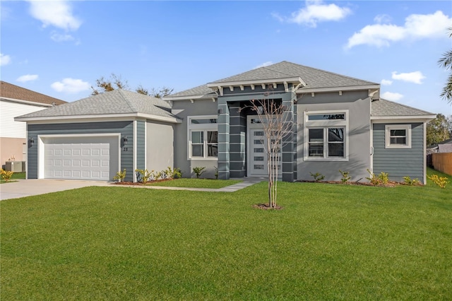
[[167, 102], [148, 95], [117, 89], [110, 92], [68, 102], [57, 107], [25, 114], [18, 118], [67, 117], [105, 114], [150, 114], [175, 118]]

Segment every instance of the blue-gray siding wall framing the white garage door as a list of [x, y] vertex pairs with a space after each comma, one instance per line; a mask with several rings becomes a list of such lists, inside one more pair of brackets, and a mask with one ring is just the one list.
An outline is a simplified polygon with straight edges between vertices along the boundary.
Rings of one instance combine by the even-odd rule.
[[[28, 179], [37, 179], [37, 136], [61, 134], [121, 134], [121, 170], [126, 169], [126, 181], [133, 180], [133, 122], [84, 122], [71, 124], [28, 124], [28, 139], [33, 138], [33, 146], [28, 145]], [[124, 146], [122, 137], [127, 136]]]

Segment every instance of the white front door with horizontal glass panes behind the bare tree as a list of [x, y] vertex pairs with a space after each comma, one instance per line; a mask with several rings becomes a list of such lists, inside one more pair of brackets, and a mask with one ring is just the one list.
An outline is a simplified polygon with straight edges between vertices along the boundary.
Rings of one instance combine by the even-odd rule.
[[[256, 116], [249, 116], [248, 122], [248, 177], [268, 175], [267, 137], [263, 125]], [[281, 148], [279, 148], [281, 149]], [[281, 158], [281, 153], [278, 154]], [[278, 163], [278, 174], [281, 176], [281, 162]]]

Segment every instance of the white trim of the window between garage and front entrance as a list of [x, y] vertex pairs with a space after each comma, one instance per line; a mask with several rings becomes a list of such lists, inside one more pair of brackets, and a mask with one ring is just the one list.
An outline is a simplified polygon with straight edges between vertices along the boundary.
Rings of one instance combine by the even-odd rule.
[[[191, 124], [191, 119], [217, 119], [218, 115], [196, 115], [189, 116], [187, 118], [187, 160], [193, 161], [217, 161], [218, 157], [208, 157], [207, 156], [207, 132], [208, 131], [217, 131], [218, 132], [218, 123], [216, 124]], [[191, 156], [191, 131], [204, 131], [204, 157], [192, 157]]]

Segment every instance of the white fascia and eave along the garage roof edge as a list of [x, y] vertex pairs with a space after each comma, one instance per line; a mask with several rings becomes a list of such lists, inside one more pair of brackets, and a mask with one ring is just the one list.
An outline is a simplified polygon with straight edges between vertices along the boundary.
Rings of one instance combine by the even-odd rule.
[[71, 116], [52, 116], [52, 117], [15, 117], [16, 122], [49, 122], [49, 123], [69, 123], [83, 120], [89, 122], [96, 119], [96, 122], [102, 122], [102, 119], [149, 119], [157, 122], [169, 122], [180, 124], [182, 120], [177, 117], [163, 117], [153, 114], [132, 113], [132, 114], [93, 114], [93, 115], [71, 115]]

